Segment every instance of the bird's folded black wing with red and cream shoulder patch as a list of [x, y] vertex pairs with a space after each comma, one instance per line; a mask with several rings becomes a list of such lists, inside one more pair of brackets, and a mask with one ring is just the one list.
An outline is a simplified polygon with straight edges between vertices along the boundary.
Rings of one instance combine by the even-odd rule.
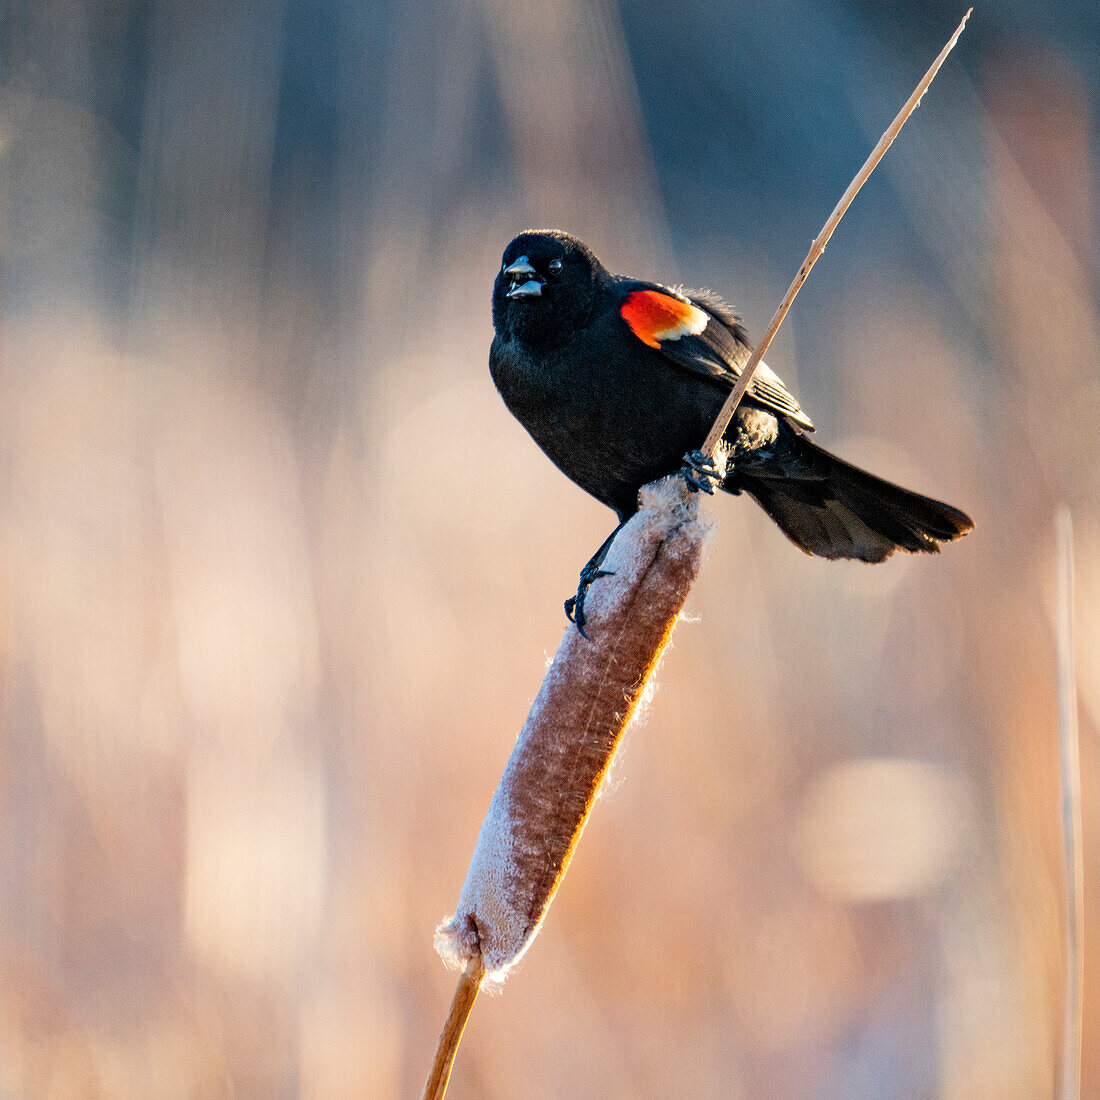
[[[619, 316], [644, 344], [660, 351], [676, 366], [732, 388], [748, 362], [751, 348], [737, 316], [721, 298], [705, 290], [684, 294], [663, 286], [628, 284]], [[813, 431], [810, 417], [766, 363], [758, 364], [749, 396], [799, 427]]]

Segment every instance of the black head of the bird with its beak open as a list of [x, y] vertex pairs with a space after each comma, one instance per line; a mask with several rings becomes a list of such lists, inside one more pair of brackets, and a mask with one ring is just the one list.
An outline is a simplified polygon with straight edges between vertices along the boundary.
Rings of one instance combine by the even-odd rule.
[[607, 272], [583, 242], [528, 230], [505, 250], [493, 286], [493, 326], [531, 344], [561, 343], [587, 323]]

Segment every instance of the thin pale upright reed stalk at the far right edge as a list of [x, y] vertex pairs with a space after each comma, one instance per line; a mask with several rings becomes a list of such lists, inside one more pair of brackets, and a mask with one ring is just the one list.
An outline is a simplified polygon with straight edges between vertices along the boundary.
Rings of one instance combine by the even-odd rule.
[[1081, 1094], [1081, 990], [1085, 983], [1085, 862], [1081, 853], [1081, 763], [1077, 730], [1077, 663], [1074, 651], [1074, 521], [1069, 508], [1055, 521], [1058, 554], [1058, 765], [1066, 876], [1066, 998], [1063, 1011], [1058, 1096]]

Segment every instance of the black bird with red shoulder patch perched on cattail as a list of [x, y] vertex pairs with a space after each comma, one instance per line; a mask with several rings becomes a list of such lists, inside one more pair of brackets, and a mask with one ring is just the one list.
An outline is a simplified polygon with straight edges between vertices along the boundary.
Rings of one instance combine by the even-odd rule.
[[[681, 468], [693, 488], [745, 491], [821, 558], [934, 553], [974, 526], [958, 508], [810, 442], [813, 424], [763, 363], [726, 430], [719, 482], [693, 449], [751, 348], [738, 317], [710, 292], [613, 275], [575, 237], [529, 231], [504, 251], [493, 326], [490, 369], [505, 404], [563, 473], [618, 514], [619, 527], [637, 512], [642, 485]], [[617, 531], [565, 604], [582, 628], [584, 594]]]

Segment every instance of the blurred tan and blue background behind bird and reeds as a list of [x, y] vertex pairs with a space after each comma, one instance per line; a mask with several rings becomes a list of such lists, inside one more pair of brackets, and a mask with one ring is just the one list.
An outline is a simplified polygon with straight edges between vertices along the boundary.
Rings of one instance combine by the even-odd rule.
[[[493, 391], [501, 252], [570, 229], [759, 334], [961, 13], [4, 6], [0, 1096], [418, 1094], [432, 930], [614, 521]], [[828, 563], [715, 502], [451, 1096], [1052, 1094], [1058, 502], [1100, 890], [1098, 96], [1091, 0], [979, 7], [768, 356], [977, 530]]]

